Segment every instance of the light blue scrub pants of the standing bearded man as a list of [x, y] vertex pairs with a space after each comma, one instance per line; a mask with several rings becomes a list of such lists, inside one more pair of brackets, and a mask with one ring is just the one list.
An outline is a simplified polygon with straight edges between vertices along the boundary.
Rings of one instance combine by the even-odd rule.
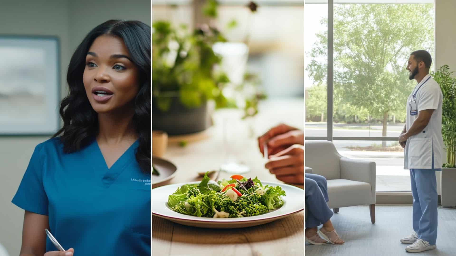
[[410, 169], [413, 195], [413, 230], [418, 238], [435, 245], [437, 240], [437, 180], [434, 151], [432, 169]]

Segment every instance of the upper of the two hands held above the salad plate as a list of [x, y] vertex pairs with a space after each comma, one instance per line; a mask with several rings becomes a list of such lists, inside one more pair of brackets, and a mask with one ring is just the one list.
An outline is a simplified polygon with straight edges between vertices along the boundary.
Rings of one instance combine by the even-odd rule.
[[268, 155], [277, 154], [293, 144], [304, 145], [304, 132], [286, 124], [279, 124], [258, 138], [258, 146], [264, 155], [264, 143], [268, 146]]

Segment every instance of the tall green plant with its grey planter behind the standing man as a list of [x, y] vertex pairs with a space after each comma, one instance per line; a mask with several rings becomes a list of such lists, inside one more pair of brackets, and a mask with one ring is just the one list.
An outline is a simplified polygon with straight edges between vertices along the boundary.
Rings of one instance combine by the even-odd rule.
[[456, 78], [450, 67], [444, 65], [432, 78], [440, 85], [442, 99], [442, 137], [446, 148], [446, 163], [440, 174], [440, 199], [442, 206], [456, 206]]

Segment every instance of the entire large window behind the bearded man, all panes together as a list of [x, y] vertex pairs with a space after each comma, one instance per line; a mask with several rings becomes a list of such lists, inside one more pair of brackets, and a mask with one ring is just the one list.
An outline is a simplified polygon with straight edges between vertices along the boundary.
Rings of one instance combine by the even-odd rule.
[[[325, 1], [306, 0], [306, 3], [317, 2]], [[334, 144], [339, 153], [351, 159], [376, 162], [377, 191], [410, 191], [409, 170], [403, 169], [404, 151], [396, 139], [366, 141], [362, 137], [399, 137], [406, 117], [406, 99], [416, 85], [415, 80], [409, 80], [405, 69], [409, 55], [424, 49], [435, 56], [433, 1], [406, 2], [334, 0], [334, 56], [329, 60], [333, 65], [333, 101], [326, 102], [326, 97], [320, 101], [332, 104], [330, 129], [336, 137]], [[305, 82], [307, 109], [311, 106], [310, 88], [319, 82], [326, 86], [328, 64], [324, 59], [328, 43], [327, 17], [316, 17], [312, 6], [319, 5], [306, 4], [305, 31], [316, 29], [315, 20], [321, 20], [323, 27], [318, 28], [318, 32], [306, 33], [306, 36], [321, 35], [313, 39], [311, 46], [305, 44], [312, 53], [306, 55], [306, 78], [310, 80]], [[327, 5], [321, 10], [325, 11], [328, 11]], [[306, 53], [308, 51], [306, 48]], [[322, 112], [325, 113], [326, 108]], [[308, 111], [306, 138], [326, 136], [326, 130], [324, 134], [318, 130], [326, 128], [326, 116], [323, 114], [318, 120], [311, 118], [318, 119], [315, 113], [309, 116]], [[353, 139], [341, 140], [344, 138]]]

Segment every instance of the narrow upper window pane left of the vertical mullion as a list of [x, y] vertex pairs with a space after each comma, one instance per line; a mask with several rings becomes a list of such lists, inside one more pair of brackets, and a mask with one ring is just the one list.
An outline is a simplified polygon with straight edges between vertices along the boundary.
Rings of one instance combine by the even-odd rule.
[[327, 136], [327, 4], [304, 8], [304, 87], [306, 90], [306, 136]]

